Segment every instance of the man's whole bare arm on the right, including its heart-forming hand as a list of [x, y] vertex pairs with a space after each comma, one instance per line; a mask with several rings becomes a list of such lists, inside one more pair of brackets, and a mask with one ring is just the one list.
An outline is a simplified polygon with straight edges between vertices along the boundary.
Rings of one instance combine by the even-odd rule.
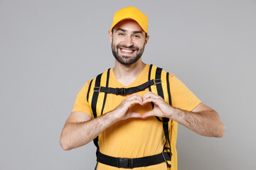
[[151, 92], [143, 96], [143, 103], [147, 102], [153, 102], [155, 106], [152, 111], [144, 113], [142, 118], [152, 115], [166, 117], [203, 136], [223, 137], [224, 135], [225, 126], [221, 123], [220, 116], [203, 103], [200, 103], [191, 112], [183, 111], [171, 107], [163, 98]]

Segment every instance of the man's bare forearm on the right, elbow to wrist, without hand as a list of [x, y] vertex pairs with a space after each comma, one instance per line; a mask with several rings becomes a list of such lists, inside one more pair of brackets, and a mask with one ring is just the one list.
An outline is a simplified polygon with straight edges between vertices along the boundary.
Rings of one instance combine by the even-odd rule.
[[174, 108], [171, 119], [207, 137], [223, 137], [225, 127], [215, 111], [188, 112]]

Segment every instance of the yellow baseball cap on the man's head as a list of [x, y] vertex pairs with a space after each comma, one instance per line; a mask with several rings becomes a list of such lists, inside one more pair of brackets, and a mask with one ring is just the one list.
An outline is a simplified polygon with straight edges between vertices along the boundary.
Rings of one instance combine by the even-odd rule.
[[119, 23], [120, 21], [124, 21], [127, 19], [132, 19], [136, 21], [137, 23], [139, 23], [139, 26], [141, 26], [142, 29], [146, 33], [148, 33], [147, 28], [148, 28], [149, 21], [147, 16], [144, 13], [142, 13], [142, 11], [139, 11], [138, 8], [135, 8], [134, 6], [128, 6], [126, 8], [122, 8], [116, 13], [114, 13], [113, 23], [110, 30], [112, 31], [112, 28], [114, 28], [114, 26], [117, 25], [117, 23]]

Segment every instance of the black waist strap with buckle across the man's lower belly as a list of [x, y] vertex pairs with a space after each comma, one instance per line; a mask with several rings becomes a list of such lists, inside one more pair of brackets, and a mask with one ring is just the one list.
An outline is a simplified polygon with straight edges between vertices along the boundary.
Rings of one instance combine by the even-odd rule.
[[119, 158], [110, 157], [106, 154], [98, 152], [97, 162], [102, 164], [107, 164], [109, 166], [114, 166], [117, 168], [133, 169], [142, 166], [151, 166], [154, 164], [161, 164], [163, 162], [171, 161], [170, 154], [168, 152], [161, 152], [160, 154], [155, 154], [149, 157], [139, 157], [139, 158]]

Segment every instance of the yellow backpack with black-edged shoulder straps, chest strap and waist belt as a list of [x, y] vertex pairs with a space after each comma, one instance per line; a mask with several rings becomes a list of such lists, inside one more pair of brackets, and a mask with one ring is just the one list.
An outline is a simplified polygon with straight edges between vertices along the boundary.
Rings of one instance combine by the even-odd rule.
[[[162, 98], [164, 98], [166, 103], [169, 103], [171, 105], [169, 73], [152, 64], [149, 67], [149, 81], [146, 81], [144, 84], [141, 84], [139, 86], [127, 89], [117, 87], [112, 88], [108, 86], [109, 79], [110, 69], [107, 69], [107, 71], [97, 75], [95, 79], [92, 79], [90, 81], [87, 91], [87, 101], [88, 103], [90, 103], [93, 118], [97, 118], [98, 116], [103, 114], [107, 94], [127, 95], [149, 88], [149, 91], [157, 94], [158, 96], [161, 96]], [[151, 105], [152, 108], [154, 108], [154, 103], [151, 103]], [[156, 118], [157, 120], [163, 122], [164, 137], [166, 139], [166, 143], [161, 154], [154, 155], [154, 157], [152, 156], [150, 158], [142, 157], [137, 159], [110, 157], [100, 153], [98, 137], [96, 137], [93, 142], [97, 147], [97, 163], [101, 162], [102, 164], [107, 164], [110, 166], [132, 169], [134, 167], [150, 166], [153, 164], [166, 162], [167, 166], [169, 166], [170, 169], [177, 169], [176, 139], [178, 132], [178, 123], [176, 123], [176, 121], [174, 120], [169, 120], [169, 118]], [[157, 162], [156, 160], [159, 161]], [[97, 165], [95, 169], [97, 169]]]

